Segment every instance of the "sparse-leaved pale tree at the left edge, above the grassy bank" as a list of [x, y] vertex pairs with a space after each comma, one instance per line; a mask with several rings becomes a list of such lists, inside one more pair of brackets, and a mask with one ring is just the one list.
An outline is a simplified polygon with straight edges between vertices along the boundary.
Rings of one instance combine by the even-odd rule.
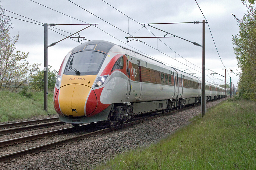
[[10, 36], [9, 30], [13, 28], [10, 19], [4, 16], [5, 11], [0, 4], [0, 90], [16, 90], [38, 68], [39, 64], [29, 65], [26, 61], [29, 53], [15, 51], [17, 36]]

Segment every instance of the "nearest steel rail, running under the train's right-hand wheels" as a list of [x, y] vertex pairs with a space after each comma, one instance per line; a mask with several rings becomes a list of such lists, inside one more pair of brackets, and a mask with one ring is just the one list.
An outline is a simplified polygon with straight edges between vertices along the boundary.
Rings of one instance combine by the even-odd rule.
[[105, 129], [90, 132], [90, 133], [87, 133], [87, 134], [78, 135], [78, 136], [75, 136], [75, 137], [72, 137], [72, 138], [68, 138], [68, 139], [64, 139], [64, 140], [61, 140], [61, 141], [56, 141], [56, 142], [44, 144], [44, 145], [37, 146], [37, 147], [34, 147], [34, 148], [29, 148], [29, 149], [26, 149], [26, 150], [23, 150], [23, 151], [17, 151], [17, 152], [11, 153], [11, 154], [2, 155], [2, 156], [0, 156], [0, 162], [7, 162], [9, 160], [12, 160], [12, 159], [15, 159], [15, 158], [18, 158], [20, 156], [27, 155], [27, 154], [30, 154], [30, 153], [38, 153], [38, 152], [41, 152], [41, 151], [46, 151], [48, 149], [55, 148], [56, 146], [60, 147], [62, 145], [68, 144], [69, 142], [80, 141], [81, 139], [88, 138], [88, 137], [96, 135], [96, 134], [108, 133], [108, 132], [111, 132], [111, 131], [115, 131], [117, 129], [129, 127], [131, 125], [138, 124], [138, 123], [143, 122], [143, 121], [154, 119], [156, 117], [160, 117], [160, 116], [163, 116], [163, 115], [172, 114], [172, 113], [175, 113], [177, 111], [186, 110], [186, 109], [189, 109], [191, 107], [195, 107], [195, 106], [190, 106], [190, 107], [182, 108], [182, 109], [179, 109], [179, 110], [173, 110], [173, 111], [168, 112], [168, 113], [158, 114], [158, 115], [147, 117], [147, 118], [140, 119], [140, 120], [137, 120], [137, 121], [128, 122], [126, 124], [120, 124], [120, 125], [117, 125], [117, 126], [114, 126], [114, 127], [105, 128]]

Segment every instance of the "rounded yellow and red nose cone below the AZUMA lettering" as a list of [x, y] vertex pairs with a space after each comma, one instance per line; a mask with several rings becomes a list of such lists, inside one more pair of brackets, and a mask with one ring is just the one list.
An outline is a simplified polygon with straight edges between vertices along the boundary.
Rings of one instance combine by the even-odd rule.
[[69, 84], [60, 88], [59, 105], [64, 115], [83, 117], [96, 109], [97, 98], [91, 87]]

